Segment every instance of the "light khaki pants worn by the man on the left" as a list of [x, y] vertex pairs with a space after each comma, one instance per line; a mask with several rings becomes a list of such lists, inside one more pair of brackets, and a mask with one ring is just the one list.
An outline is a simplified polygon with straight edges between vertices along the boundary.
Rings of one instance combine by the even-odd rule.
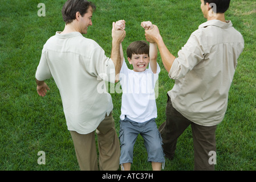
[[[70, 131], [82, 171], [97, 171], [97, 151], [95, 132], [79, 134]], [[112, 113], [105, 116], [96, 130], [99, 148], [99, 168], [101, 171], [115, 171], [119, 169], [120, 144], [116, 134]]]

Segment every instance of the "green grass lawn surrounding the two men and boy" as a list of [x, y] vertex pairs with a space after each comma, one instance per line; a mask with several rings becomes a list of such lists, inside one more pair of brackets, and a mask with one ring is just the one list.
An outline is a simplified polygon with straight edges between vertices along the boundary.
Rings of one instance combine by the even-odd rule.
[[[0, 170], [79, 170], [74, 146], [53, 79], [47, 80], [50, 92], [41, 98], [36, 93], [35, 71], [43, 44], [56, 31], [62, 31], [61, 9], [64, 0], [44, 0], [46, 16], [39, 17], [39, 1], [0, 1]], [[157, 1], [95, 0], [93, 26], [87, 38], [94, 39], [111, 53], [112, 22], [125, 19], [127, 36], [124, 50], [135, 40], [145, 40], [140, 23], [151, 20], [160, 28], [170, 52], [177, 52], [190, 34], [205, 22], [199, 0]], [[255, 1], [233, 0], [226, 13], [242, 33], [245, 49], [229, 92], [224, 121], [217, 127], [216, 170], [256, 169], [256, 14]], [[126, 53], [125, 53], [126, 55]], [[165, 121], [166, 92], [174, 84], [161, 67], [157, 125]], [[113, 117], [119, 131], [121, 94], [111, 93]], [[46, 164], [39, 165], [38, 151], [46, 152]], [[151, 170], [143, 139], [135, 144], [133, 170]], [[190, 127], [178, 139], [175, 158], [166, 159], [165, 169], [193, 170], [193, 139]]]

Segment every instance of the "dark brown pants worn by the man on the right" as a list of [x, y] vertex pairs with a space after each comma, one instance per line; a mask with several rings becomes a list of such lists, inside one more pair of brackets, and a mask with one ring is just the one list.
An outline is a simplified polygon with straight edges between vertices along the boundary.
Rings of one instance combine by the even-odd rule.
[[166, 121], [159, 127], [162, 143], [164, 143], [162, 148], [166, 157], [173, 158], [177, 139], [189, 125], [191, 125], [193, 133], [194, 170], [214, 170], [214, 164], [209, 163], [209, 158], [212, 156], [211, 151], [216, 152], [215, 131], [217, 126], [201, 126], [189, 121], [174, 109], [168, 96]]

